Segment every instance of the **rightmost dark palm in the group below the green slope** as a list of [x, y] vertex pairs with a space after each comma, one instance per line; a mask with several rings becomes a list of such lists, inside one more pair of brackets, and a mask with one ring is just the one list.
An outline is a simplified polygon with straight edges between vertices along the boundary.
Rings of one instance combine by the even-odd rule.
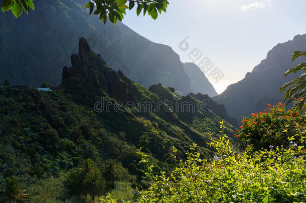
[[114, 184], [120, 179], [121, 177], [121, 167], [120, 165], [114, 160], [107, 160], [102, 168], [102, 175], [105, 178], [106, 182], [110, 187], [113, 187]]

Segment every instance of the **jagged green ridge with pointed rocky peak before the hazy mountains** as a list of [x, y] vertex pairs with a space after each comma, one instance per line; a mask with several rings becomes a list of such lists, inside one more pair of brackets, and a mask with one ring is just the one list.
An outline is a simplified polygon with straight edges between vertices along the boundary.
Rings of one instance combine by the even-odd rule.
[[[134, 186], [142, 188], [149, 181], [137, 148], [148, 154], [157, 172], [172, 167], [172, 146], [178, 157], [185, 157], [195, 142], [201, 157], [212, 158], [207, 142], [209, 133], [220, 137], [223, 119], [213, 112], [219, 105], [206, 104], [199, 95], [178, 95], [161, 84], [148, 90], [109, 68], [84, 38], [70, 59], [71, 67], [62, 69], [62, 83], [53, 91], [0, 87], [1, 177], [58, 176], [82, 159], [97, 164], [115, 159], [137, 177]], [[233, 145], [235, 127], [224, 124]]]

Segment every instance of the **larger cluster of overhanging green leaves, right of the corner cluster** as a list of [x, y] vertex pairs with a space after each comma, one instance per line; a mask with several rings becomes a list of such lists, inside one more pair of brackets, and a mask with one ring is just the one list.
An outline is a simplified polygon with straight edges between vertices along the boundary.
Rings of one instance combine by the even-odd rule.
[[147, 14], [156, 20], [158, 13], [162, 14], [163, 11], [166, 13], [168, 5], [167, 0], [92, 0], [85, 5], [85, 8], [90, 8], [89, 15], [92, 13], [100, 15], [99, 20], [103, 20], [104, 24], [108, 16], [108, 19], [115, 25], [117, 20], [122, 22], [127, 9], [132, 10], [136, 7], [137, 16], [143, 11], [143, 16]]

